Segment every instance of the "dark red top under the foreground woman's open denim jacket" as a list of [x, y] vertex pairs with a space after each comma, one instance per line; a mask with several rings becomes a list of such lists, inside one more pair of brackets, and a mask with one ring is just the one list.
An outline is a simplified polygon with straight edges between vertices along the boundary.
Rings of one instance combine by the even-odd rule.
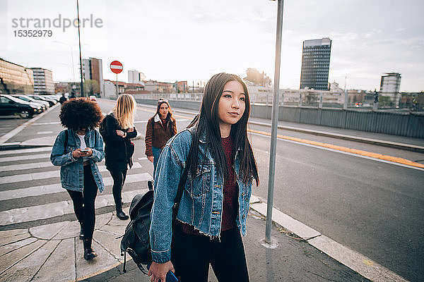
[[[235, 226], [235, 219], [238, 214], [238, 185], [235, 181], [235, 171], [232, 165], [234, 164], [233, 150], [234, 142], [230, 136], [221, 138], [225, 158], [227, 159], [228, 178], [224, 181], [223, 190], [223, 214], [221, 221], [221, 231], [230, 230]], [[199, 234], [199, 231], [194, 229], [194, 226], [182, 224], [182, 231], [188, 234]]]

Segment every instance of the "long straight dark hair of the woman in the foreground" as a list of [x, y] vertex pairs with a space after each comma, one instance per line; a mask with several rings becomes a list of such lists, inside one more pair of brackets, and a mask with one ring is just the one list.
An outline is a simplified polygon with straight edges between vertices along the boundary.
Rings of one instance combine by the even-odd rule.
[[[201, 135], [206, 133], [206, 140], [211, 149], [211, 154], [215, 160], [218, 173], [226, 178], [228, 176], [227, 163], [225, 159], [225, 153], [221, 142], [219, 118], [218, 118], [218, 104], [221, 95], [223, 94], [224, 86], [227, 82], [237, 81], [243, 87], [245, 92], [245, 112], [237, 123], [231, 126], [231, 137], [235, 143], [235, 154], [237, 149], [242, 149], [242, 157], [240, 163], [240, 174], [244, 183], [249, 181], [249, 178], [253, 177], [259, 185], [259, 175], [257, 169], [257, 163], [254, 159], [252, 146], [250, 145], [247, 137], [247, 120], [250, 114], [250, 99], [247, 91], [245, 82], [237, 75], [230, 73], [218, 73], [206, 83], [203, 99], [201, 102], [200, 113], [193, 119], [189, 127], [194, 126], [194, 146], [192, 159], [187, 160], [190, 172], [195, 175], [197, 171], [199, 153], [199, 138]], [[234, 155], [232, 157], [235, 157]]]

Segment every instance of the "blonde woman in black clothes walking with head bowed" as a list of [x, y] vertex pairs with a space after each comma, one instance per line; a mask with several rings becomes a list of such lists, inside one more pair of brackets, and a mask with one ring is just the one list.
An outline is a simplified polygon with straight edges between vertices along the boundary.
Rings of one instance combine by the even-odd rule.
[[103, 140], [105, 140], [105, 164], [113, 178], [113, 199], [117, 216], [121, 220], [128, 219], [122, 211], [122, 186], [125, 183], [126, 171], [132, 166], [134, 143], [131, 138], [137, 136], [134, 126], [134, 110], [136, 101], [129, 94], [121, 94], [112, 112], [105, 116], [102, 123]]

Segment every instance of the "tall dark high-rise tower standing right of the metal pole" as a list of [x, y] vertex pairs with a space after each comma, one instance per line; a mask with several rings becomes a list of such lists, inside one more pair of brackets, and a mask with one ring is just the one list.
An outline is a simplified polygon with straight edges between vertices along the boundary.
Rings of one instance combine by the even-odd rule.
[[303, 42], [300, 89], [329, 89], [331, 39], [312, 39]]

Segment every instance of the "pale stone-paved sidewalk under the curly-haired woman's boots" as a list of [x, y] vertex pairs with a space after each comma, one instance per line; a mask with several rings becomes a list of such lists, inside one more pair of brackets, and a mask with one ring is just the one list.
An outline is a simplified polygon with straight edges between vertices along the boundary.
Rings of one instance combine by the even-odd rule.
[[[129, 208], [126, 208], [128, 212]], [[0, 281], [81, 281], [122, 264], [120, 239], [129, 221], [114, 213], [96, 216], [93, 250], [83, 259], [78, 221], [0, 231]]]

